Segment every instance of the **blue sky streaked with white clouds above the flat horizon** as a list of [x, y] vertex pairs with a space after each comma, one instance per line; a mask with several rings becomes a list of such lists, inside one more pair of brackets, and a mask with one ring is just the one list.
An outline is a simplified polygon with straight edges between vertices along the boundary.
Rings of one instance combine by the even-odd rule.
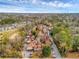
[[0, 0], [4, 13], [79, 13], [79, 0]]

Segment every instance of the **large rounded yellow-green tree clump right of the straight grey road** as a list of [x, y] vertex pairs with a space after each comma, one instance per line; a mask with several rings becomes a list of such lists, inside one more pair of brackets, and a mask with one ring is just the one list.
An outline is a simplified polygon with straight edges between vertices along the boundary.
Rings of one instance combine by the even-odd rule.
[[53, 27], [51, 34], [62, 55], [65, 55], [72, 48], [72, 35], [70, 29], [63, 23], [57, 23]]

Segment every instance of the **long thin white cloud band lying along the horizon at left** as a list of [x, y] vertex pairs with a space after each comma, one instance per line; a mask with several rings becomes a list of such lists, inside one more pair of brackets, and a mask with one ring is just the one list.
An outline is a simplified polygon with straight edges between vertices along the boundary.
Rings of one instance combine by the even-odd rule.
[[20, 9], [20, 8], [14, 8], [14, 9], [0, 9], [0, 12], [3, 12], [3, 13], [50, 13], [49, 11], [38, 11], [38, 10], [23, 10], [23, 9]]

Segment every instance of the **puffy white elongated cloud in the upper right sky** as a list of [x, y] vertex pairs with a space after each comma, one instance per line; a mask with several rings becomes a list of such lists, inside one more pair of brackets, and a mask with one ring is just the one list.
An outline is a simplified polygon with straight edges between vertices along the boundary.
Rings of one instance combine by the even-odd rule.
[[52, 6], [55, 8], [68, 8], [73, 7], [74, 5], [72, 3], [64, 3], [60, 1], [53, 1], [53, 2], [41, 2], [42, 5]]

